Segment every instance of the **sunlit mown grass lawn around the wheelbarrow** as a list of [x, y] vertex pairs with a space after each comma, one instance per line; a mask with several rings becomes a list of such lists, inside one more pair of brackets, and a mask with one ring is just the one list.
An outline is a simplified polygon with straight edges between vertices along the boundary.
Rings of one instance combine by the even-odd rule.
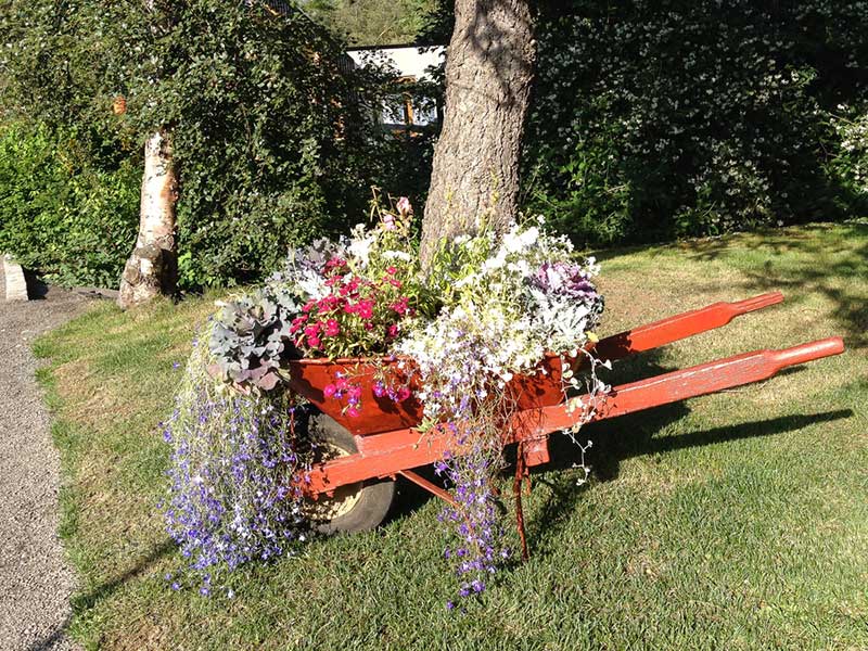
[[[868, 222], [603, 256], [603, 333], [780, 289], [783, 306], [651, 352], [627, 381], [842, 334], [842, 356], [760, 385], [588, 427], [534, 475], [532, 558], [447, 613], [439, 505], [400, 485], [380, 529], [316, 540], [234, 576], [233, 600], [173, 592], [155, 502], [170, 410], [207, 301], [108, 304], [38, 340], [62, 452], [62, 536], [78, 571], [72, 635], [106, 649], [868, 648]], [[505, 480], [506, 485], [506, 480]]]

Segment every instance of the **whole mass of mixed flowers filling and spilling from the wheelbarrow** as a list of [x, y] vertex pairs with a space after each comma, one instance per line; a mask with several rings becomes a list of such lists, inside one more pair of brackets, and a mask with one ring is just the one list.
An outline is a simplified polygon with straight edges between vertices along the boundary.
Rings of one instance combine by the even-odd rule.
[[[207, 345], [194, 348], [166, 427], [175, 447], [166, 518], [193, 570], [210, 576], [222, 562], [291, 552], [307, 535], [298, 486], [316, 442], [297, 425], [289, 360], [380, 363], [373, 396], [400, 403], [414, 391], [422, 436], [447, 429], [451, 444], [435, 471], [455, 488], [441, 520], [457, 534], [445, 557], [459, 597], [485, 590], [510, 556], [495, 490], [505, 423], [518, 409], [510, 380], [545, 373], [540, 361], [553, 353], [565, 390], [605, 390], [587, 349], [603, 310], [599, 267], [566, 238], [541, 218], [502, 235], [483, 229], [444, 242], [423, 271], [409, 202], [373, 205], [373, 226], [292, 252], [264, 288], [221, 303]], [[578, 378], [571, 369], [585, 357], [589, 372]], [[413, 382], [394, 382], [396, 367]], [[352, 373], [323, 394], [345, 416], [360, 413]]]

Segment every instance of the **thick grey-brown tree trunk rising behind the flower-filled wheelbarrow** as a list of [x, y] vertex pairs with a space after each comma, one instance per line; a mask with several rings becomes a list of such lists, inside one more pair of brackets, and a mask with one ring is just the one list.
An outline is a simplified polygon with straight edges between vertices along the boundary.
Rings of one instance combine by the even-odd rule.
[[422, 225], [422, 263], [438, 242], [518, 215], [519, 156], [535, 56], [527, 0], [456, 0], [446, 115]]

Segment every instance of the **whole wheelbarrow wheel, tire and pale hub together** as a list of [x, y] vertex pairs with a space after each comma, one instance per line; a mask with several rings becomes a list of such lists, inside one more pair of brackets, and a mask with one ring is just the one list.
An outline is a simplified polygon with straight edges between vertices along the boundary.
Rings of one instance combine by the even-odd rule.
[[[318, 448], [317, 461], [358, 452], [353, 435], [324, 413], [310, 417], [310, 439]], [[394, 481], [366, 481], [341, 486], [330, 497], [307, 502], [307, 515], [321, 534], [367, 532], [388, 513], [395, 498]]]

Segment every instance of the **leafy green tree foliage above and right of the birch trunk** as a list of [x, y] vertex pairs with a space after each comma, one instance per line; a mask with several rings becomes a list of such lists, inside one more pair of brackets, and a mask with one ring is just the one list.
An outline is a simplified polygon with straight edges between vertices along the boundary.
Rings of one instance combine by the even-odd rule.
[[[360, 213], [383, 170], [371, 77], [350, 72], [344, 44], [297, 9], [56, 4], [8, 2], [4, 103], [27, 119], [87, 125], [94, 149], [138, 151], [169, 128], [182, 286], [261, 278], [292, 244]], [[112, 112], [118, 95], [123, 115]]]

